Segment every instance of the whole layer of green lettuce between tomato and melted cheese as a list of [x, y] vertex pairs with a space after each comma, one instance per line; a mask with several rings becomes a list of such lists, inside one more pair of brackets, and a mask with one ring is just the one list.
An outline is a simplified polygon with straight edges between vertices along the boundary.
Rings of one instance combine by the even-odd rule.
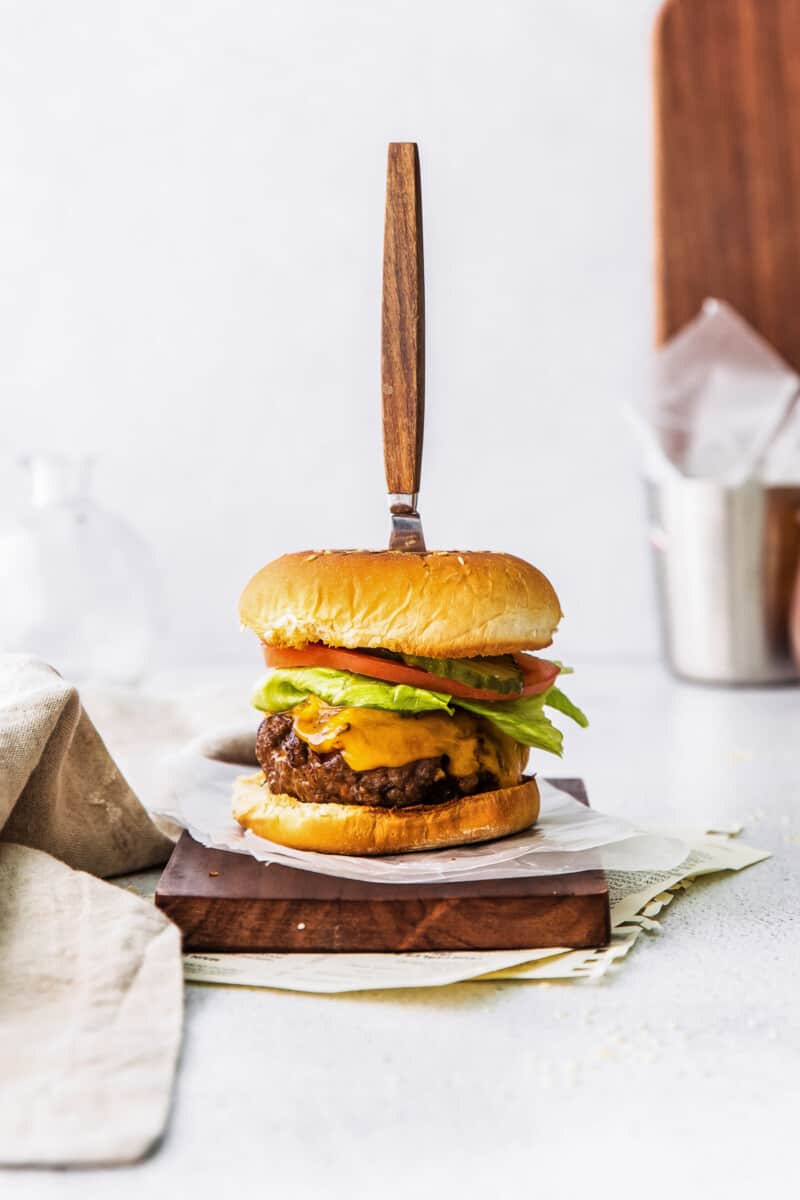
[[263, 713], [283, 713], [302, 703], [308, 695], [319, 696], [326, 704], [338, 708], [383, 708], [392, 713], [429, 713], [443, 710], [452, 715], [453, 707], [485, 716], [499, 730], [525, 746], [561, 754], [561, 731], [546, 715], [554, 708], [578, 725], [589, 721], [559, 688], [551, 688], [540, 696], [519, 696], [517, 700], [463, 700], [426, 688], [381, 683], [349, 671], [327, 667], [296, 667], [272, 671], [259, 683], [252, 701]]

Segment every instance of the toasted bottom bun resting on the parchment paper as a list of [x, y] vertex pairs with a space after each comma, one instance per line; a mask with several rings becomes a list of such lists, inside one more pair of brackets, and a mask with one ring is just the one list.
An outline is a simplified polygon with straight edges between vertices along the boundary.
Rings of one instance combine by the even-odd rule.
[[245, 829], [294, 850], [404, 854], [519, 833], [539, 816], [539, 787], [535, 779], [525, 779], [516, 787], [463, 796], [444, 804], [384, 809], [367, 804], [311, 804], [293, 796], [273, 796], [259, 772], [236, 780], [233, 811]]

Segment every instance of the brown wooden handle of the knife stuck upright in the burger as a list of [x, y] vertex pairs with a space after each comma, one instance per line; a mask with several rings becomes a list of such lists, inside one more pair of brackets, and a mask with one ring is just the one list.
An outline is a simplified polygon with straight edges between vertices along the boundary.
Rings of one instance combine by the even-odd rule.
[[414, 142], [389, 145], [381, 382], [386, 488], [414, 496], [420, 490], [425, 418], [422, 193]]

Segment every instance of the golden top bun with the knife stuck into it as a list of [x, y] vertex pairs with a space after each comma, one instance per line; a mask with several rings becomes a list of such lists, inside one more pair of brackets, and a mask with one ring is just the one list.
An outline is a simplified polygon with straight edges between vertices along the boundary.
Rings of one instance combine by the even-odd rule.
[[267, 646], [475, 658], [549, 646], [561, 608], [546, 576], [512, 554], [323, 550], [269, 563], [239, 616]]

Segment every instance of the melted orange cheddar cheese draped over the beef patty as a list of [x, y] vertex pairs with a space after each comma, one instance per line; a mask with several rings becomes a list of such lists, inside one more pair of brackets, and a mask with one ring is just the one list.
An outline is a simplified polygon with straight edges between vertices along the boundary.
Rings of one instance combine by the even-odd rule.
[[452, 775], [488, 770], [500, 787], [512, 787], [528, 748], [471, 713], [404, 715], [378, 708], [329, 708], [309, 696], [291, 713], [294, 731], [313, 750], [339, 750], [353, 770], [403, 767], [446, 755]]

